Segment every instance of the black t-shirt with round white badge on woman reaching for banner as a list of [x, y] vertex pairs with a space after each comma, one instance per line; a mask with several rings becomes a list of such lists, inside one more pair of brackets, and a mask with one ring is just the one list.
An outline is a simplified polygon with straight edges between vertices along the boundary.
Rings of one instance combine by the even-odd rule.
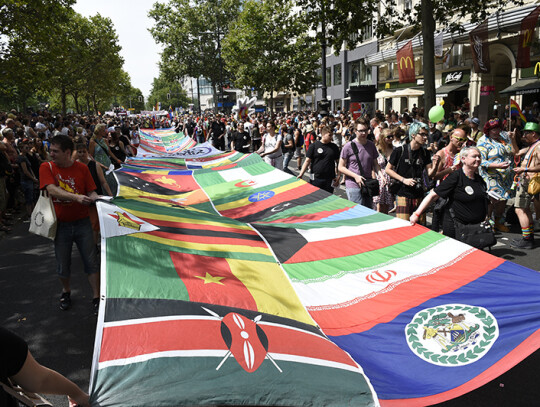
[[474, 179], [470, 179], [459, 169], [446, 177], [435, 193], [450, 199], [447, 210], [452, 208], [461, 223], [480, 223], [486, 219], [486, 184], [480, 175], [474, 174]]

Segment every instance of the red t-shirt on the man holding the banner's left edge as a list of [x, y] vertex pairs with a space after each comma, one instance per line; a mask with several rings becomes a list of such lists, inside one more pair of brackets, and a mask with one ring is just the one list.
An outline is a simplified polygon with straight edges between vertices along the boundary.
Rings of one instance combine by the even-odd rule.
[[[50, 164], [51, 166], [46, 162], [39, 167], [40, 189], [45, 189], [47, 185], [56, 185], [77, 195], [87, 195], [89, 192], [96, 190], [92, 174], [90, 174], [90, 170], [85, 164], [74, 161], [73, 165], [66, 168], [58, 167], [53, 162]], [[53, 198], [53, 204], [56, 218], [60, 222], [72, 222], [89, 216], [87, 205], [73, 201], [63, 201], [58, 198]]]

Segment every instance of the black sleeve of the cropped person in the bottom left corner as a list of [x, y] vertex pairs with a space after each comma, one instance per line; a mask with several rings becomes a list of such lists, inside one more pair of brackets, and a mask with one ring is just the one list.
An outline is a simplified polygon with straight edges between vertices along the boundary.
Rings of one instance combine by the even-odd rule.
[[[7, 383], [8, 377], [15, 376], [22, 369], [28, 345], [13, 332], [0, 327], [0, 381]], [[10, 406], [11, 400], [0, 388], [0, 406]]]

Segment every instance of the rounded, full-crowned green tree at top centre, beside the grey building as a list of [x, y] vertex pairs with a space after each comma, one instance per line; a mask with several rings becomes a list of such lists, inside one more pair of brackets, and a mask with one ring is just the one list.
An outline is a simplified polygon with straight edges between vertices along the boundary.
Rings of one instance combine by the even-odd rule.
[[227, 69], [237, 87], [308, 92], [317, 83], [318, 47], [292, 3], [248, 0], [223, 41]]

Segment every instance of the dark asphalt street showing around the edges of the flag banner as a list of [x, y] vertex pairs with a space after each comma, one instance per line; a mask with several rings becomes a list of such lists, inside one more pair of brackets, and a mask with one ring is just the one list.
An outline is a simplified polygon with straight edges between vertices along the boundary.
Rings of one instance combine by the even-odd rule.
[[[344, 196], [343, 187], [336, 194]], [[515, 226], [510, 233], [500, 234], [491, 253], [538, 270], [540, 245], [529, 251], [512, 249], [509, 242], [518, 236]], [[540, 240], [538, 232], [536, 237]], [[61, 311], [61, 286], [55, 275], [52, 241], [30, 234], [28, 223], [22, 220], [17, 221], [10, 234], [0, 233], [0, 324], [25, 338], [40, 363], [88, 390], [96, 317], [91, 307], [90, 286], [76, 250], [74, 253], [73, 307]], [[540, 351], [483, 387], [441, 406], [540, 405], [538, 366]], [[65, 397], [47, 396], [47, 399], [54, 406], [68, 406]]]

